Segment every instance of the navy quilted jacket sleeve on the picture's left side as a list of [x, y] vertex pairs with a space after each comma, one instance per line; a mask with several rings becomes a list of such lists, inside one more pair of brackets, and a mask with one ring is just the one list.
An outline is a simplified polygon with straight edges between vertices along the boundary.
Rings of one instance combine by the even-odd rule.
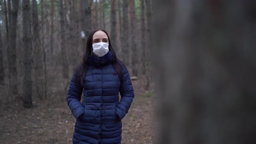
[[81, 104], [81, 95], [83, 91], [83, 86], [81, 84], [75, 83], [75, 72], [72, 76], [71, 82], [69, 84], [69, 92], [67, 97], [67, 102], [72, 114], [76, 119], [81, 118], [84, 113], [84, 107]]

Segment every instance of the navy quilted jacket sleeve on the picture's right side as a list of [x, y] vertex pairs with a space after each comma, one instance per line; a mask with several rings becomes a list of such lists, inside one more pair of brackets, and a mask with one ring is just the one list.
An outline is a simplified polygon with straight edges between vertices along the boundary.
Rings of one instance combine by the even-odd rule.
[[121, 100], [115, 109], [115, 114], [118, 116], [119, 120], [123, 119], [128, 113], [131, 102], [134, 98], [134, 90], [131, 84], [130, 75], [125, 65], [123, 65], [122, 73], [122, 81], [119, 89]]

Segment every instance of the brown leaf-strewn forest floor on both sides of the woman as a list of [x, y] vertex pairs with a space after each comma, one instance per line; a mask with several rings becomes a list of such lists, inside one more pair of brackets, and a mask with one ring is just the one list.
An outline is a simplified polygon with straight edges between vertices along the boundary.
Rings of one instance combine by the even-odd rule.
[[[135, 98], [122, 120], [122, 144], [154, 144], [155, 96], [146, 94], [143, 80], [132, 81]], [[75, 126], [64, 92], [51, 98], [33, 100], [33, 108], [23, 108], [21, 101], [0, 109], [0, 144], [72, 144]], [[59, 96], [57, 96], [59, 94]], [[62, 96], [60, 96], [62, 95]], [[49, 100], [50, 99], [50, 100]]]

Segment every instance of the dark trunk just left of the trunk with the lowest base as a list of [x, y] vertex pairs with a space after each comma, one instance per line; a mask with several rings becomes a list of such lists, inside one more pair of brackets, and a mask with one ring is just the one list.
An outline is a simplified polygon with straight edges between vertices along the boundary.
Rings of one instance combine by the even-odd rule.
[[[17, 89], [17, 70], [16, 70], [16, 29], [17, 29], [17, 16], [19, 10], [19, 0], [14, 0], [12, 2], [13, 8], [11, 10], [11, 22], [10, 22], [10, 49], [7, 50], [8, 53], [8, 64], [9, 64], [9, 81], [10, 81], [10, 92], [13, 95], [18, 94]], [[9, 6], [8, 6], [9, 7]]]

